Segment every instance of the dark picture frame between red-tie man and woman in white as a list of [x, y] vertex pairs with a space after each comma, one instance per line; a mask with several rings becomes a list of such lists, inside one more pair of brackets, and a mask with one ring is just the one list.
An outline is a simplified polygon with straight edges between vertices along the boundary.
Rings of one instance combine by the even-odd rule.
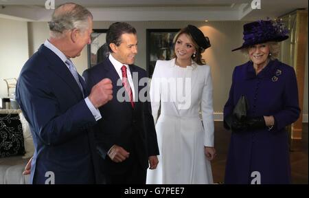
[[180, 29], [146, 30], [146, 67], [149, 78], [155, 69], [157, 60], [171, 60], [174, 54], [173, 39]]

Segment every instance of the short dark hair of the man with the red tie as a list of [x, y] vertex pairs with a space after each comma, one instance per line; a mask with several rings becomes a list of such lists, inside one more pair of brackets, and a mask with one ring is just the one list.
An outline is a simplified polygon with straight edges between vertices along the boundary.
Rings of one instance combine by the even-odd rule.
[[125, 22], [116, 22], [109, 26], [106, 32], [106, 44], [109, 52], [113, 53], [109, 44], [115, 43], [119, 46], [122, 43], [122, 34], [136, 34], [135, 28]]

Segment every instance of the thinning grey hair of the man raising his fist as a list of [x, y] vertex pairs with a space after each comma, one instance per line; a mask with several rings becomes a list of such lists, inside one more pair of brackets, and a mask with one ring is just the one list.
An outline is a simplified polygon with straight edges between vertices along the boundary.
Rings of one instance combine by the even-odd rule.
[[60, 38], [65, 30], [78, 29], [83, 32], [89, 28], [89, 17], [93, 19], [91, 12], [82, 5], [63, 3], [54, 10], [52, 21], [48, 22], [50, 34], [54, 38]]

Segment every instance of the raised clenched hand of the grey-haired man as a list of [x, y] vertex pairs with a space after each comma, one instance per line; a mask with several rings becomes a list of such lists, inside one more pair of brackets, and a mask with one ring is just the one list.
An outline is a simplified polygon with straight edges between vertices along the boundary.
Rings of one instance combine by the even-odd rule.
[[95, 108], [101, 107], [113, 99], [113, 85], [111, 80], [104, 78], [97, 85], [93, 86], [88, 96]]

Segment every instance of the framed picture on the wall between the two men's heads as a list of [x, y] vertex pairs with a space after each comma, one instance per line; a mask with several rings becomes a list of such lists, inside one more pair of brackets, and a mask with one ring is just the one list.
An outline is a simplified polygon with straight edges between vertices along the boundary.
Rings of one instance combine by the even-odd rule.
[[108, 56], [105, 29], [95, 29], [91, 33], [91, 44], [87, 45], [88, 68], [101, 63]]

